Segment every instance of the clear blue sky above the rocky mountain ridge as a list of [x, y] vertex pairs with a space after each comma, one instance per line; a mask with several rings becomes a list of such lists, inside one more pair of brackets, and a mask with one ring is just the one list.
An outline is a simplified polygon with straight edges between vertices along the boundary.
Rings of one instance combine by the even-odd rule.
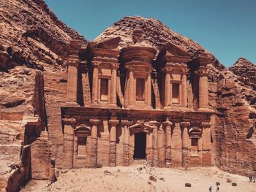
[[58, 18], [93, 40], [127, 15], [156, 18], [211, 51], [225, 66], [256, 64], [256, 0], [46, 0]]

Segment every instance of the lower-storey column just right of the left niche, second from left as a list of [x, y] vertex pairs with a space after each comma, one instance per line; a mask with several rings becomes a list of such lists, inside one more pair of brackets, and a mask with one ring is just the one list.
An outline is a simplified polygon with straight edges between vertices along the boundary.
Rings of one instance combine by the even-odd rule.
[[91, 123], [91, 146], [90, 146], [90, 163], [91, 166], [97, 164], [97, 145], [98, 145], [98, 123], [99, 119], [90, 119]]

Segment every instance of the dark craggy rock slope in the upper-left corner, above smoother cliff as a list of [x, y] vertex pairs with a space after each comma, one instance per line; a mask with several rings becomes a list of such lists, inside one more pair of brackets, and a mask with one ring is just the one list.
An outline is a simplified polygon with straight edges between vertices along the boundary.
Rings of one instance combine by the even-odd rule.
[[86, 45], [42, 0], [1, 1], [0, 9], [0, 71], [17, 65], [57, 70], [65, 65], [72, 39]]

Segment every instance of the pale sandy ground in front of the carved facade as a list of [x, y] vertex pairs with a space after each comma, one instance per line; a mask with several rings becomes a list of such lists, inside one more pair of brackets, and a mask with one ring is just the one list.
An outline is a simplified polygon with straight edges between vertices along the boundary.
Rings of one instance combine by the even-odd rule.
[[[140, 170], [141, 169], [141, 170]], [[105, 170], [111, 174], [105, 175]], [[61, 173], [62, 172], [62, 173]], [[249, 183], [247, 177], [222, 172], [216, 167], [167, 169], [150, 168], [145, 166], [117, 166], [102, 167], [100, 169], [69, 169], [60, 170], [58, 181], [46, 187], [47, 181], [31, 181], [24, 191], [208, 191], [211, 184], [216, 191], [216, 182], [219, 182], [219, 191], [256, 192], [256, 183]], [[153, 176], [157, 181], [149, 180]], [[162, 178], [161, 178], [162, 177]], [[163, 179], [163, 180], [162, 180]], [[230, 179], [232, 183], [227, 183]], [[190, 183], [191, 187], [185, 187]]]

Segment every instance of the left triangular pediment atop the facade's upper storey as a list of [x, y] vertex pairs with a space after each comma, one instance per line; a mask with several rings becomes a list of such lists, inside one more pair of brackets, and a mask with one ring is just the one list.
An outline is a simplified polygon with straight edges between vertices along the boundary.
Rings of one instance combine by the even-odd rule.
[[120, 41], [121, 37], [110, 37], [99, 42], [91, 42], [90, 45], [92, 48], [116, 50]]

